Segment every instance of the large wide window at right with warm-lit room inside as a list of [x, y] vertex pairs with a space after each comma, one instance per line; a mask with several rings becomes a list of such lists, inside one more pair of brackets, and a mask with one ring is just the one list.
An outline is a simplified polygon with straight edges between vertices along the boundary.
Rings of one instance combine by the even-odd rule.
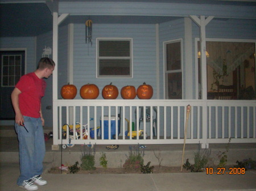
[[[206, 50], [207, 99], [255, 99], [255, 41], [208, 39]], [[200, 84], [200, 54], [197, 59]]]

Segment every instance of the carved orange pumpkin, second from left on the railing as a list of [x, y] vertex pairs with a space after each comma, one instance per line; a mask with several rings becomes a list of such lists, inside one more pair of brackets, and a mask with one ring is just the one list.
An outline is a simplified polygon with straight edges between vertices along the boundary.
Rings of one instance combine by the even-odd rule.
[[95, 84], [85, 84], [80, 88], [80, 96], [82, 99], [96, 99], [100, 94], [98, 86]]

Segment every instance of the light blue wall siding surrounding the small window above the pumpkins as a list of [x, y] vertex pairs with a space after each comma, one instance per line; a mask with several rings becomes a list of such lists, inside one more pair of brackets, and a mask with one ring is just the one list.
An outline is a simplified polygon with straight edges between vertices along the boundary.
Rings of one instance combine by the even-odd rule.
[[[154, 24], [94, 24], [93, 46], [85, 44], [84, 24], [75, 24], [74, 29], [74, 84], [80, 90], [87, 83], [94, 83], [101, 90], [110, 82], [121, 88], [133, 85], [138, 88], [143, 82], [151, 84], [156, 92], [156, 58]], [[96, 78], [96, 38], [120, 37], [133, 39], [133, 78]], [[155, 99], [154, 94], [153, 98]], [[81, 99], [80, 95], [76, 99]]]

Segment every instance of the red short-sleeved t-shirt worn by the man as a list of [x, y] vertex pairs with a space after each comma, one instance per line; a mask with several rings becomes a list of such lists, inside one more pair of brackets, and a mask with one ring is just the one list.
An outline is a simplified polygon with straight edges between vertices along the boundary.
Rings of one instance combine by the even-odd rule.
[[39, 118], [41, 98], [46, 90], [46, 82], [35, 73], [23, 75], [15, 86], [19, 94], [19, 109], [23, 116]]

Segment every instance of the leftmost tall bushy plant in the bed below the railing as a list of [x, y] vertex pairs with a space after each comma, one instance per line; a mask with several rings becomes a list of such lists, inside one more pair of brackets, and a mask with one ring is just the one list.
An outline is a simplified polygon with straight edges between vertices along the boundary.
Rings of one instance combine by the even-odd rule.
[[93, 149], [91, 147], [88, 147], [86, 145], [84, 145], [84, 150], [82, 152], [82, 156], [81, 156], [81, 169], [88, 171], [88, 170], [95, 170], [96, 167], [94, 167], [95, 165], [95, 149], [96, 149], [96, 145], [93, 147]]

